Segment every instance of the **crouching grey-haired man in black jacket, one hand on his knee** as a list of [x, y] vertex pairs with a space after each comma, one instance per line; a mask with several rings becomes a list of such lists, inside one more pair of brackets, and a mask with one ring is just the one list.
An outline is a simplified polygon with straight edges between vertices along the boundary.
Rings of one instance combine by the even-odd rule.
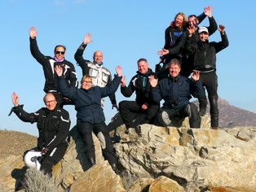
[[121, 94], [130, 98], [134, 92], [136, 93], [135, 101], [121, 101], [119, 103], [121, 118], [126, 124], [126, 133], [128, 133], [129, 128], [135, 127], [132, 121], [132, 112], [145, 114], [146, 117], [142, 123], [152, 124], [159, 109], [159, 103], [154, 103], [149, 97], [149, 77], [153, 75], [152, 69], [149, 68], [147, 59], [139, 59], [137, 64], [138, 72], [131, 78], [129, 85], [126, 86], [125, 76], [121, 80]]

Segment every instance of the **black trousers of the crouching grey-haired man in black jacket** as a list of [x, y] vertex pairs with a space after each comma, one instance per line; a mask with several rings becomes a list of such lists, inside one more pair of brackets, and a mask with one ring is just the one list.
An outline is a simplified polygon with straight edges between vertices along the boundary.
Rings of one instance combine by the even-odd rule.
[[158, 110], [159, 105], [149, 105], [147, 110], [143, 110], [135, 101], [121, 101], [119, 103], [119, 112], [122, 120], [126, 124], [126, 129], [135, 127], [132, 118], [133, 113], [143, 113], [146, 115], [144, 120], [140, 122], [141, 124], [153, 124]]

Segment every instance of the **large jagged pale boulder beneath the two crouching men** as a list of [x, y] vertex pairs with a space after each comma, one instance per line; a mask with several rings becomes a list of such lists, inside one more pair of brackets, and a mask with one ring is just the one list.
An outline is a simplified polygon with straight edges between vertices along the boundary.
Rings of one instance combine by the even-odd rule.
[[164, 175], [186, 191], [201, 191], [209, 185], [256, 190], [255, 128], [214, 130], [143, 124], [137, 129], [138, 133], [128, 136], [117, 129], [121, 142], [115, 148], [121, 167], [130, 175]]

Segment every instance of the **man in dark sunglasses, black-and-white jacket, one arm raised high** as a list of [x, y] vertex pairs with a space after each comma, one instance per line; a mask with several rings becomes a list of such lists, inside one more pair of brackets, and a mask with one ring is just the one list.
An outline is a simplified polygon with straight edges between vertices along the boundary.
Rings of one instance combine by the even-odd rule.
[[68, 98], [63, 97], [60, 94], [60, 89], [58, 87], [58, 77], [55, 74], [54, 68], [56, 65], [60, 65], [64, 70], [65, 80], [68, 82], [68, 85], [77, 87], [77, 73], [73, 66], [73, 63], [68, 62], [64, 59], [66, 47], [62, 45], [55, 46], [54, 57], [42, 55], [38, 49], [37, 37], [38, 32], [35, 27], [29, 29], [29, 41], [30, 41], [30, 51], [33, 55], [33, 58], [42, 65], [44, 76], [46, 79], [44, 85], [44, 91], [46, 93], [53, 93], [55, 98], [60, 105], [63, 107], [65, 104], [70, 104]]

